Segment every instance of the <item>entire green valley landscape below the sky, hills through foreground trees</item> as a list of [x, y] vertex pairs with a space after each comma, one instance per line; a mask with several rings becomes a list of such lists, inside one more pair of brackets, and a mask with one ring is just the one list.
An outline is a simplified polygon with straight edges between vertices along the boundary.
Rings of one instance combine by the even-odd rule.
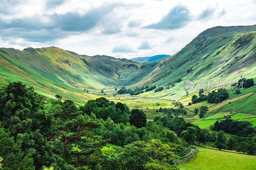
[[[256, 25], [213, 27], [174, 55], [132, 60], [0, 48], [0, 130], [34, 169], [250, 169], [255, 47]], [[190, 146], [198, 152], [174, 166]]]

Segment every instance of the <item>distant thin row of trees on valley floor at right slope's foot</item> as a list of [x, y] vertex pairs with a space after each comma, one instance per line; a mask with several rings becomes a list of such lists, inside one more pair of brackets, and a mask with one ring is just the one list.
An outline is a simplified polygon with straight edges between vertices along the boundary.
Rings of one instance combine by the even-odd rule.
[[141, 87], [136, 87], [134, 90], [132, 89], [126, 89], [124, 86], [117, 91], [118, 94], [129, 94], [130, 95], [138, 95], [140, 93], [144, 93], [144, 89], [145, 89], [145, 92], [149, 92], [151, 90], [154, 90], [156, 88], [156, 85], [153, 85], [153, 86], [141, 86]]

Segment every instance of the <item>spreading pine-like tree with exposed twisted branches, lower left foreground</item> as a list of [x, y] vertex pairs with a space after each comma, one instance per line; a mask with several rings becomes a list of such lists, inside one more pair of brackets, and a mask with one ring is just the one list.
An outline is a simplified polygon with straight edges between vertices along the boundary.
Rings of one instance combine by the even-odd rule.
[[[61, 154], [64, 154], [65, 161], [73, 167], [95, 164], [99, 159], [97, 152], [107, 142], [92, 132], [93, 129], [100, 128], [100, 122], [81, 115], [71, 100], [64, 102], [62, 114], [55, 119], [56, 125], [53, 129], [56, 129], [60, 136], [53, 136], [52, 142], [62, 146]], [[73, 150], [74, 145], [76, 150]]]

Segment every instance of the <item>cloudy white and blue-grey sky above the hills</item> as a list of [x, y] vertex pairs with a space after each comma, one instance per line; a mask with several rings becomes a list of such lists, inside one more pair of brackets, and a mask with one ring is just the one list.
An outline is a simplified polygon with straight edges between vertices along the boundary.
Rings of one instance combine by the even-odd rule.
[[0, 47], [173, 55], [214, 26], [256, 24], [255, 0], [1, 0]]

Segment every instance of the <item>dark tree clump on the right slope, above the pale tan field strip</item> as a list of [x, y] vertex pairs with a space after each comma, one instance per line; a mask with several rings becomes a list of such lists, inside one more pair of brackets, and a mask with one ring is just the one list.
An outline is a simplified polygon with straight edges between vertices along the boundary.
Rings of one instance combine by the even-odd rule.
[[[201, 89], [200, 89], [201, 90]], [[199, 103], [201, 101], [207, 100], [209, 103], [220, 103], [223, 100], [228, 99], [229, 94], [228, 91], [224, 88], [218, 89], [217, 92], [212, 91], [210, 93], [208, 93], [208, 95], [204, 95], [201, 93], [201, 95], [199, 95], [199, 97], [197, 97], [196, 95], [192, 96], [192, 103]]]

